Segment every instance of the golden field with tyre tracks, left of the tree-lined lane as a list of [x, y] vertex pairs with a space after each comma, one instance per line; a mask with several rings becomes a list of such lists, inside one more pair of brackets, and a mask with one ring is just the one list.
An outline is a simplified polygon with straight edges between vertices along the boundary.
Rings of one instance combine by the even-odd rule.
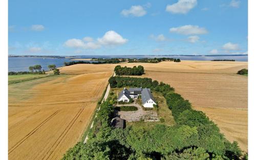
[[10, 84], [9, 159], [60, 159], [81, 140], [112, 74], [58, 75]]

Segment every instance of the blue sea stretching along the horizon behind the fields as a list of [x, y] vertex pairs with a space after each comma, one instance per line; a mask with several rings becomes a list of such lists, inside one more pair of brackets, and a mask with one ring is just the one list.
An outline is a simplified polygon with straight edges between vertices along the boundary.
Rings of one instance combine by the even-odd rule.
[[[234, 59], [236, 61], [248, 61], [248, 56], [76, 56], [72, 58], [179, 58], [181, 60], [214, 60], [214, 59]], [[40, 64], [42, 70], [48, 71], [49, 64], [55, 64], [57, 67], [63, 66], [64, 62], [74, 61], [68, 58], [42, 58], [42, 57], [8, 57], [8, 72], [29, 71], [29, 66]], [[87, 60], [89, 61], [89, 60]]]

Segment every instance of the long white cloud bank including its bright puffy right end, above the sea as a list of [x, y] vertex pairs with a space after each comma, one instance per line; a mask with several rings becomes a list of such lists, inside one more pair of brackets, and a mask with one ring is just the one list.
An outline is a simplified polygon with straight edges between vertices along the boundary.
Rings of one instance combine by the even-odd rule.
[[84, 37], [81, 39], [69, 39], [64, 42], [64, 46], [76, 49], [98, 49], [101, 45], [121, 45], [128, 41], [115, 31], [106, 32], [103, 37], [94, 41], [92, 37]]

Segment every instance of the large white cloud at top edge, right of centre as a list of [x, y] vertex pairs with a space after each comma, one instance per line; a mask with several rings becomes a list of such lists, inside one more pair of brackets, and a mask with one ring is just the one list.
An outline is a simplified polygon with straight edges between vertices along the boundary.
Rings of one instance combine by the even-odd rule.
[[171, 12], [174, 14], [177, 14], [177, 13], [186, 14], [191, 9], [196, 7], [196, 5], [197, 5], [197, 0], [178, 0], [178, 2], [173, 5], [167, 5], [165, 11]]

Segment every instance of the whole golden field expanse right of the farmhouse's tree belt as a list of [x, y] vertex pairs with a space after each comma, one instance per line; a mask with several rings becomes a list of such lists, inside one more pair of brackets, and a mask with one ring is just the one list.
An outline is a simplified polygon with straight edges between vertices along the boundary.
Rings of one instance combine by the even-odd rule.
[[248, 77], [237, 71], [247, 62], [182, 61], [143, 65], [145, 75], [170, 84], [215, 123], [229, 141], [248, 148]]

